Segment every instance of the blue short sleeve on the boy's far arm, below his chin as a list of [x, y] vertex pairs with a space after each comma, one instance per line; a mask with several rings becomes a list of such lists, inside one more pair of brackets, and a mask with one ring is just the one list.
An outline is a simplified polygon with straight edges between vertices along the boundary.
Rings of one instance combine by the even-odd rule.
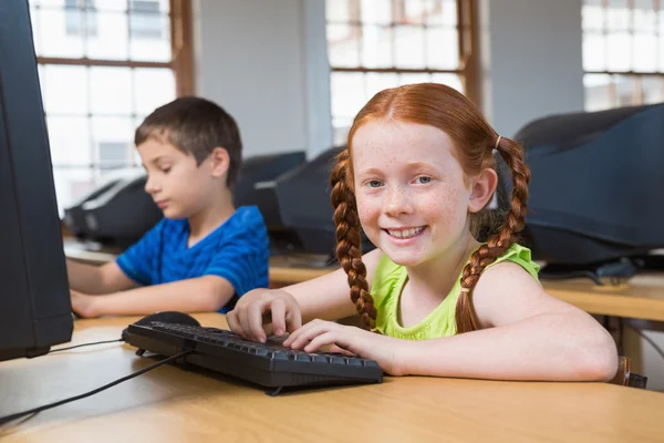
[[120, 269], [139, 285], [152, 285], [153, 262], [162, 243], [165, 218], [157, 223], [137, 243], [125, 250], [115, 261]]

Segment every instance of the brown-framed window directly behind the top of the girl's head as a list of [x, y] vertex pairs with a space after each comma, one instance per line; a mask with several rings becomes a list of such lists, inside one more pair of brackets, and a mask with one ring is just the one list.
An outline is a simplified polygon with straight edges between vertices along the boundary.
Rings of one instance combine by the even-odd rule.
[[470, 0], [326, 0], [334, 143], [376, 92], [439, 82], [477, 101]]

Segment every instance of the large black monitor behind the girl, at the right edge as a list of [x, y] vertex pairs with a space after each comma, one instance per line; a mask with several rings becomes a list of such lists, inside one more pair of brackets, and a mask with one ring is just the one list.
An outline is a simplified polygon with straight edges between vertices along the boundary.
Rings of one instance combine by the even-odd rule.
[[554, 115], [519, 131], [532, 173], [525, 237], [536, 259], [620, 274], [621, 262], [664, 247], [663, 122], [661, 103]]

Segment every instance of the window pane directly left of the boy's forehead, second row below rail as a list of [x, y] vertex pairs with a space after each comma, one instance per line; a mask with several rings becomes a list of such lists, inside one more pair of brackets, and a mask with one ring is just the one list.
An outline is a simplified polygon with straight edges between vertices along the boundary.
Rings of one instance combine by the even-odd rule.
[[132, 164], [133, 119], [92, 117], [95, 163], [110, 168]]

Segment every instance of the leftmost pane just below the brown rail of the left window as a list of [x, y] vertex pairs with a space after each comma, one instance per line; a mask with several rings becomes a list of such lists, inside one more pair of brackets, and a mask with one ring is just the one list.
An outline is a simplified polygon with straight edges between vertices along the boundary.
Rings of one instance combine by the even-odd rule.
[[46, 114], [87, 115], [87, 68], [45, 65], [42, 84]]

